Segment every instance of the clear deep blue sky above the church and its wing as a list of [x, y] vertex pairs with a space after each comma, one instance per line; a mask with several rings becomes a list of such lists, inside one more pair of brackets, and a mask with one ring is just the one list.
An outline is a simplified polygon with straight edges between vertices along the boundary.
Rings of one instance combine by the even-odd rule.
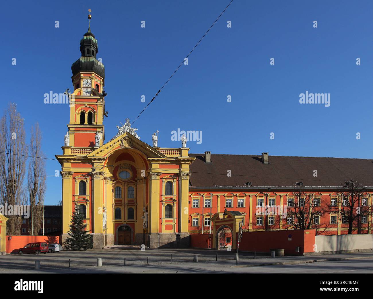
[[[80, 57], [88, 9], [106, 69], [109, 141], [116, 125], [137, 117], [229, 3], [62, 2], [7, 1], [0, 21], [0, 108], [18, 104], [28, 138], [39, 122], [49, 158], [62, 153], [69, 107], [44, 104], [43, 95], [73, 89], [70, 67]], [[134, 127], [148, 144], [159, 130], [160, 147], [181, 146], [171, 140], [172, 130], [202, 131], [201, 144], [187, 143], [193, 153], [372, 158], [372, 13], [372, 1], [234, 0]], [[330, 107], [300, 104], [305, 91], [330, 93]], [[46, 167], [46, 204], [56, 204], [60, 164], [46, 160]]]

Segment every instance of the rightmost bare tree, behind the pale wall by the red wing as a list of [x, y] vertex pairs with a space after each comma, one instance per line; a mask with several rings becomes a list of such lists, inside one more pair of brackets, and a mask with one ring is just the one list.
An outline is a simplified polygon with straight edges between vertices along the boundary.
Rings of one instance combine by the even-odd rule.
[[328, 204], [330, 212], [339, 214], [345, 223], [348, 223], [348, 235], [352, 234], [352, 228], [358, 227], [360, 233], [361, 216], [369, 214], [368, 193], [366, 187], [356, 180], [346, 182], [336, 192], [336, 202]]

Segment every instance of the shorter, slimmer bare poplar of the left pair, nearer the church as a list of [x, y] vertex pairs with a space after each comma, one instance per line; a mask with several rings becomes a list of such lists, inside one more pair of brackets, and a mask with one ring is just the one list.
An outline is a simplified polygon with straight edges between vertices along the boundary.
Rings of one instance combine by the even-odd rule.
[[37, 236], [43, 224], [43, 200], [46, 191], [46, 169], [44, 157], [41, 151], [41, 132], [39, 124], [35, 128], [31, 127], [30, 138], [30, 160], [28, 164], [28, 182], [27, 189], [29, 193], [29, 202], [32, 210], [32, 228], [29, 233]]

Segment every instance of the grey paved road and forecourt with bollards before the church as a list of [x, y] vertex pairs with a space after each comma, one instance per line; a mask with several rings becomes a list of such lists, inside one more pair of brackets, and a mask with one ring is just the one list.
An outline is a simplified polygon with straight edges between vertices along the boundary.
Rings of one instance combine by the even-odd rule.
[[[194, 254], [198, 254], [198, 263], [193, 262]], [[97, 258], [102, 258], [103, 267], [97, 267]], [[332, 258], [348, 260], [326, 261]], [[40, 260], [40, 270], [34, 269], [37, 259]], [[322, 262], [311, 262], [313, 260]], [[269, 265], [273, 263], [292, 264]], [[0, 273], [373, 273], [373, 252], [277, 258], [257, 256], [256, 259], [242, 253], [236, 267], [234, 253], [226, 251], [91, 249], [82, 252], [0, 256]]]

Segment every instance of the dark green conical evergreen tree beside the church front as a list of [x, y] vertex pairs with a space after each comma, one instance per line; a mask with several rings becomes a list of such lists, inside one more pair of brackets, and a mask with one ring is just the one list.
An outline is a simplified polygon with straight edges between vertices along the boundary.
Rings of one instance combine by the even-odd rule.
[[66, 239], [65, 248], [67, 250], [79, 251], [92, 248], [91, 236], [86, 230], [87, 224], [84, 222], [84, 215], [80, 212], [79, 206], [75, 204], [75, 210], [72, 213], [69, 237]]

